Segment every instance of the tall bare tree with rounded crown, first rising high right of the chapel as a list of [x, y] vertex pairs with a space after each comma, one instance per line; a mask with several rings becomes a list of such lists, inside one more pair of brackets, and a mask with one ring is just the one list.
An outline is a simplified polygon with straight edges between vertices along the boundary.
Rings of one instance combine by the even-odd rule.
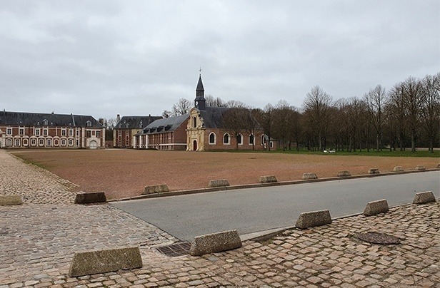
[[333, 100], [321, 87], [314, 86], [306, 94], [303, 106], [309, 123], [313, 125], [312, 131], [318, 140], [319, 150], [324, 150], [323, 141], [326, 137], [326, 128], [329, 125]]

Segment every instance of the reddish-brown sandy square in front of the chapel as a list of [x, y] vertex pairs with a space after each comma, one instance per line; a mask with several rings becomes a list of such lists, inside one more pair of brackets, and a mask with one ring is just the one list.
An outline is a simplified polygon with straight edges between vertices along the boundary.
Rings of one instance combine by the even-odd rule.
[[[11, 151], [12, 152], [12, 151]], [[79, 185], [76, 190], [104, 191], [109, 199], [140, 195], [146, 185], [166, 184], [170, 190], [207, 187], [209, 180], [227, 179], [231, 185], [259, 182], [262, 175], [279, 181], [299, 180], [303, 173], [334, 177], [381, 172], [395, 166], [436, 168], [439, 158], [346, 155], [290, 155], [281, 153], [215, 153], [156, 150], [20, 150], [12, 152], [38, 163]]]

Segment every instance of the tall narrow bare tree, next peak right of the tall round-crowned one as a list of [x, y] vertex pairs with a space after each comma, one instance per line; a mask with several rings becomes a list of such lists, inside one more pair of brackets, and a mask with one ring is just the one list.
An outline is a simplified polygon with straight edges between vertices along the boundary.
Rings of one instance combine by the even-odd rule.
[[384, 108], [387, 104], [388, 98], [385, 88], [380, 84], [364, 95], [367, 115], [376, 131], [376, 150], [379, 152], [382, 147], [382, 128], [385, 122]]

